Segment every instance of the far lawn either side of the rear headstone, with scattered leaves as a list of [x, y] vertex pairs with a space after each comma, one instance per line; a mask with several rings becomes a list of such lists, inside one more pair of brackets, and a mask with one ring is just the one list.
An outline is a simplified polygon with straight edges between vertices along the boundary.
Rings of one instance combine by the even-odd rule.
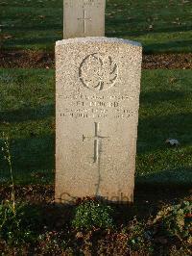
[[[143, 43], [146, 53], [191, 52], [192, 2], [107, 0], [106, 35]], [[3, 0], [1, 46], [53, 51], [62, 38], [62, 0]]]

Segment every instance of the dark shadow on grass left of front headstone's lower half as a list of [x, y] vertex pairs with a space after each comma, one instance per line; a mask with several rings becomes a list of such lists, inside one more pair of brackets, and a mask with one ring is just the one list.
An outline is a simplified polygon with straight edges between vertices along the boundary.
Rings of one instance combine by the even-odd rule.
[[[0, 141], [3, 144], [3, 141]], [[12, 170], [17, 184], [50, 184], [54, 181], [55, 136], [33, 136], [33, 138], [11, 141]], [[10, 180], [8, 163], [0, 155], [0, 183]]]

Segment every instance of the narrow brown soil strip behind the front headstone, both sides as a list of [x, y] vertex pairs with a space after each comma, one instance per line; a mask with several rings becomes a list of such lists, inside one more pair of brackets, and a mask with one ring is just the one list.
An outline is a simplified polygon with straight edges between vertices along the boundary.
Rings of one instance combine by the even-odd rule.
[[[0, 67], [3, 68], [54, 68], [54, 53], [36, 51], [1, 51]], [[143, 56], [143, 69], [191, 69], [192, 53], [155, 54]]]

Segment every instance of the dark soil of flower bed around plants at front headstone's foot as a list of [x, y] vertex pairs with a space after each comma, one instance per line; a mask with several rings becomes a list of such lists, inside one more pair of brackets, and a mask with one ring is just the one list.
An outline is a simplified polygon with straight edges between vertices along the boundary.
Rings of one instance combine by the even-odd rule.
[[[41, 243], [36, 243], [33, 246], [25, 244], [21, 247], [22, 255], [79, 255], [80, 251], [82, 255], [115, 255], [115, 256], [149, 256], [142, 248], [142, 251], [133, 250], [130, 251], [130, 247], [127, 244], [130, 234], [123, 233], [121, 231], [122, 226], [137, 225], [139, 227], [139, 219], [148, 221], [152, 216], [156, 216], [157, 212], [166, 204], [179, 203], [182, 200], [192, 200], [192, 191], [188, 187], [177, 188], [157, 188], [137, 185], [134, 192], [134, 204], [128, 205], [116, 205], [115, 206], [115, 219], [116, 228], [102, 229], [93, 228], [90, 231], [78, 231], [70, 228], [68, 223], [71, 219], [71, 212], [73, 212], [72, 206], [55, 207], [54, 204], [54, 186], [52, 185], [29, 185], [29, 186], [15, 186], [15, 196], [19, 198], [21, 202], [27, 202], [34, 209], [41, 211], [43, 216], [43, 224], [46, 229], [49, 230], [46, 233], [46, 240]], [[11, 199], [11, 188], [9, 186], [0, 186], [0, 201]], [[40, 210], [41, 209], [41, 210]], [[137, 217], [138, 220], [133, 223], [132, 219]], [[51, 221], [50, 221], [51, 220]], [[156, 226], [156, 230], [160, 226]], [[144, 230], [142, 230], [144, 232]], [[60, 244], [62, 239], [68, 239], [68, 247], [73, 247], [77, 254], [71, 254], [60, 251]], [[154, 239], [155, 251], [153, 255], [175, 255], [175, 254], [162, 254], [166, 253], [168, 249], [174, 246], [180, 248], [179, 240], [168, 240], [166, 237], [156, 233]], [[54, 243], [51, 243], [53, 241]], [[47, 245], [52, 246], [49, 248]], [[127, 244], [127, 245], [126, 245]], [[9, 247], [6, 243], [0, 239], [0, 250], [5, 251], [8, 254], [5, 255], [21, 255], [17, 247]], [[183, 255], [189, 255], [190, 248], [181, 248]], [[103, 253], [101, 253], [101, 251]], [[14, 253], [12, 253], [14, 252]], [[64, 253], [64, 254], [63, 254]], [[175, 253], [175, 251], [173, 251]], [[181, 254], [180, 254], [181, 255]]]

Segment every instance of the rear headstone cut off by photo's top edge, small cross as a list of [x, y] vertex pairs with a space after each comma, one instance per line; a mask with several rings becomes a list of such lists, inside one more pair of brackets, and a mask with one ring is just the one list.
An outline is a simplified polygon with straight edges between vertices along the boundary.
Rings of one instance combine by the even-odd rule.
[[64, 38], [105, 36], [106, 0], [64, 0]]

